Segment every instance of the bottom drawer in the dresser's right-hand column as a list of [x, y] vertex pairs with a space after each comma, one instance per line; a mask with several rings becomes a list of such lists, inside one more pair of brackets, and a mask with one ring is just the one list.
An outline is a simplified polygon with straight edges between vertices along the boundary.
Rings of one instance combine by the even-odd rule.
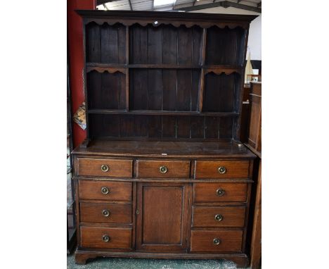
[[243, 231], [240, 230], [192, 230], [191, 251], [240, 252]]

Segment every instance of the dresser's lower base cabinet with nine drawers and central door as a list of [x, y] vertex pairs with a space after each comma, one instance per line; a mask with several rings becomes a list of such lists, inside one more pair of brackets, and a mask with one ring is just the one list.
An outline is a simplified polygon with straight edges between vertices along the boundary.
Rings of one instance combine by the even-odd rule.
[[[254, 155], [239, 152], [201, 161], [131, 154], [120, 162], [110, 153], [75, 152], [75, 168], [84, 165], [75, 175], [76, 263], [97, 256], [224, 258], [246, 266]], [[129, 177], [126, 165], [120, 177], [117, 163], [129, 163]]]

